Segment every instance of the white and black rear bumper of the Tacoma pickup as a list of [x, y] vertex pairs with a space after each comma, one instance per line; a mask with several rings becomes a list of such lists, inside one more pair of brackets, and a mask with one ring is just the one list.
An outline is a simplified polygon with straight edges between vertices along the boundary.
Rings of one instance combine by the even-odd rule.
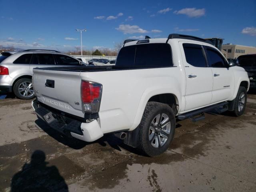
[[32, 101], [32, 107], [39, 118], [44, 120], [51, 128], [67, 136], [92, 142], [103, 136], [103, 132], [97, 120], [91, 122], [81, 122], [79, 120], [66, 117], [65, 115], [56, 114], [46, 109], [36, 100]]

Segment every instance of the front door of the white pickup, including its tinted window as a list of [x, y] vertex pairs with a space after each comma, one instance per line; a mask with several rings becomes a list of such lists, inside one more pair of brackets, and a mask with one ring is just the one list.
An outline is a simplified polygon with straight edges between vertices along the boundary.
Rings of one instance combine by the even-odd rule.
[[226, 59], [216, 48], [204, 46], [204, 49], [213, 77], [211, 103], [228, 100], [234, 92], [234, 73], [230, 68], [227, 68]]

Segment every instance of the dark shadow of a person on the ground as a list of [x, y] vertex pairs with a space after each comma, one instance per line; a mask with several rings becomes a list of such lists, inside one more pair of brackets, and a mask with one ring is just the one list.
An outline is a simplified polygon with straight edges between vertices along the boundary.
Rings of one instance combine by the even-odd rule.
[[30, 164], [25, 163], [12, 177], [11, 192], [68, 192], [68, 186], [56, 166], [47, 166], [45, 153], [33, 152]]

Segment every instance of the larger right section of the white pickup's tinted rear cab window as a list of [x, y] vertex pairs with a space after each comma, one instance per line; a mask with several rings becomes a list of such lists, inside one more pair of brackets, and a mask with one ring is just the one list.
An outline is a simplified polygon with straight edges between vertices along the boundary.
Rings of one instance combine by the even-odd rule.
[[171, 47], [167, 43], [138, 44], [136, 66], [173, 66]]

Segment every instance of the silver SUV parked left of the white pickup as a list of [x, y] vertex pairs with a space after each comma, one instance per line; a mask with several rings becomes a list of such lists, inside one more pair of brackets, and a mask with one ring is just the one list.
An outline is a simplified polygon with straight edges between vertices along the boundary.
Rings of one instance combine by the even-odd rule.
[[82, 61], [55, 50], [24, 50], [0, 54], [0, 90], [14, 92], [17, 98], [32, 99], [33, 68], [82, 66]]

